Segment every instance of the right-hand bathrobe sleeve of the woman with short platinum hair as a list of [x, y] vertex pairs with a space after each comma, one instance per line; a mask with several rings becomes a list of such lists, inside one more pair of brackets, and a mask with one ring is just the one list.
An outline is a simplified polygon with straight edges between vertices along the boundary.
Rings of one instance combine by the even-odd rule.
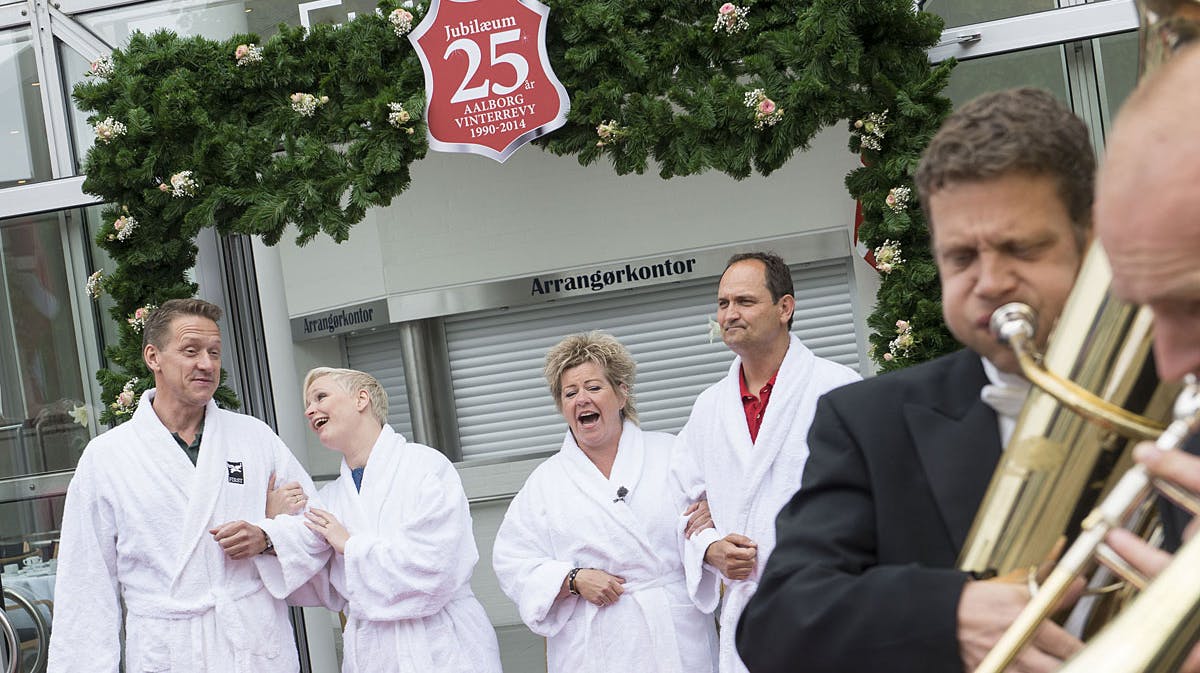
[[404, 511], [386, 511], [379, 534], [350, 531], [346, 599], [356, 617], [419, 619], [439, 612], [479, 560], [467, 495], [454, 465], [425, 474]]

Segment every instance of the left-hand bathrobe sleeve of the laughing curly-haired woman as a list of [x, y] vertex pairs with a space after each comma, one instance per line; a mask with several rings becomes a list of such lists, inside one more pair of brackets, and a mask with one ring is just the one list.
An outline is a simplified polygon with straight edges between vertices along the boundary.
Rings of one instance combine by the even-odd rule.
[[[542, 505], [546, 499], [541, 493], [546, 488], [542, 483], [551, 480], [539, 479], [545, 475], [544, 468], [545, 463], [529, 476], [509, 505], [496, 534], [492, 566], [500, 589], [517, 605], [521, 620], [534, 633], [551, 637], [566, 625], [580, 599], [568, 595], [556, 600], [563, 578], [575, 565], [554, 558], [548, 524], [553, 515]], [[580, 497], [570, 486], [559, 495], [563, 509], [570, 509], [570, 499]]]

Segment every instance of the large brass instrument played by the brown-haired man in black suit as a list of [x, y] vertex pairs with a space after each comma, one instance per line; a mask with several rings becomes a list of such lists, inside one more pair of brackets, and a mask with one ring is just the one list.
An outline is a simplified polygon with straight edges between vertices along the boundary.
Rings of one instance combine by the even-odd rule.
[[1112, 298], [1110, 278], [1104, 251], [1092, 245], [1044, 356], [1034, 353], [1030, 307], [992, 314], [992, 334], [1036, 385], [962, 546], [961, 570], [988, 577], [1044, 561], [1129, 464], [1129, 439], [1165, 427], [1158, 419], [1168, 417], [1175, 389], [1154, 375], [1150, 312]]

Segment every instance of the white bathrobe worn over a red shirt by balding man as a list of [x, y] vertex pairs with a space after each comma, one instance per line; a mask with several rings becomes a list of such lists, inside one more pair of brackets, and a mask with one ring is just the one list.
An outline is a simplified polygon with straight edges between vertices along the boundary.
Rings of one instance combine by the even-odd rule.
[[738, 533], [758, 543], [754, 573], [742, 581], [725, 579], [720, 673], [746, 671], [734, 645], [738, 618], [775, 548], [775, 516], [800, 487], [817, 398], [859, 378], [848, 367], [815, 356], [792, 335], [757, 441], [750, 440], [742, 404], [742, 357], [733, 360], [724, 379], [700, 393], [679, 432], [673, 474], [689, 498], [707, 493], [715, 527], [696, 534], [697, 543], [689, 547], [697, 552], [684, 559], [689, 588], [695, 591], [709, 570], [703, 549], [710, 542]]

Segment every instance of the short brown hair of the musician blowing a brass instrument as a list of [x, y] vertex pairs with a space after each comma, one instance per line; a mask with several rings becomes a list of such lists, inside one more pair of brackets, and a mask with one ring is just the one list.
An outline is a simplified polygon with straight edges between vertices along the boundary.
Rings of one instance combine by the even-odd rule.
[[1096, 154], [1084, 122], [1043, 89], [984, 94], [946, 119], [925, 148], [916, 176], [930, 232], [936, 223], [929, 198], [938, 190], [1014, 173], [1058, 182], [1058, 197], [1082, 250], [1092, 228]]

